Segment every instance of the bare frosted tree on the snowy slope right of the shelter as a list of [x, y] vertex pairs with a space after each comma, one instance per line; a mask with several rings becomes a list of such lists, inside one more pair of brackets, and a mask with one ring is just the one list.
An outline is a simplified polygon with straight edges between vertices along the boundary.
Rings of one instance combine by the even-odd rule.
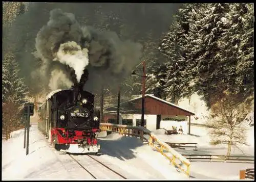
[[[225, 97], [211, 107], [211, 120], [207, 124], [210, 129], [211, 145], [227, 144], [227, 159], [232, 146], [241, 150], [238, 144], [246, 143], [245, 120], [251, 112], [251, 99], [239, 101], [238, 95], [225, 93]], [[242, 151], [242, 150], [241, 150]], [[242, 151], [243, 152], [243, 151]]]

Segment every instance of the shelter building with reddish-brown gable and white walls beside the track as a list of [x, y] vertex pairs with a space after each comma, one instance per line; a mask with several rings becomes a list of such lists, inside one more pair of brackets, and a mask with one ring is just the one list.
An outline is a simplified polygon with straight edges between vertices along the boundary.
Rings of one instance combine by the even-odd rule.
[[[141, 101], [138, 96], [120, 104], [119, 121], [117, 123], [117, 108], [111, 107], [104, 113], [104, 122], [140, 126]], [[177, 131], [182, 128], [184, 134], [190, 133], [190, 116], [194, 112], [181, 108], [173, 103], [158, 98], [152, 94], [145, 94], [144, 127], [149, 130], [166, 129]]]

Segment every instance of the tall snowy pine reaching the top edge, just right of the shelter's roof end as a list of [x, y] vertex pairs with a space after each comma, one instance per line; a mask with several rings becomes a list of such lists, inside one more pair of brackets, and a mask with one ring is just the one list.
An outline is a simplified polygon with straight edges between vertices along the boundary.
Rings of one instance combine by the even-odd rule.
[[[196, 81], [199, 94], [204, 95], [208, 107], [216, 102], [226, 89], [223, 63], [220, 59], [218, 45], [225, 30], [222, 27], [222, 17], [225, 16], [227, 7], [221, 4], [212, 4], [206, 8], [205, 17], [199, 21], [202, 53], [197, 58], [198, 80]], [[224, 60], [225, 61], [225, 60]]]

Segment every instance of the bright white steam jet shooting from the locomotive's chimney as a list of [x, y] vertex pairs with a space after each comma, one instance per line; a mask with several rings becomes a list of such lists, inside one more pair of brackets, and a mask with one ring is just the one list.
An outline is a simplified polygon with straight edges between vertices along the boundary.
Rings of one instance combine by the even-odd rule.
[[75, 41], [62, 43], [59, 46], [57, 58], [55, 58], [54, 61], [59, 61], [73, 68], [79, 83], [84, 68], [89, 64], [88, 49], [82, 49]]

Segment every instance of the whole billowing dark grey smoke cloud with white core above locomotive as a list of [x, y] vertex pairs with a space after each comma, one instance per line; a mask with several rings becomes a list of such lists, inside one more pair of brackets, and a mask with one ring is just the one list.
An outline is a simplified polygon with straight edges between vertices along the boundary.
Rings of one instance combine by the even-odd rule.
[[[42, 60], [39, 70], [44, 80], [51, 83], [48, 85], [52, 85], [57, 80], [54, 77], [60, 75], [56, 73], [61, 72], [66, 75], [62, 80], [82, 83], [84, 89], [92, 92], [102, 85], [120, 84], [141, 56], [139, 43], [121, 41], [115, 32], [81, 27], [72, 13], [63, 13], [60, 9], [50, 12], [50, 20], [38, 32], [36, 50], [35, 55]], [[89, 77], [88, 74], [82, 76], [86, 69]]]

